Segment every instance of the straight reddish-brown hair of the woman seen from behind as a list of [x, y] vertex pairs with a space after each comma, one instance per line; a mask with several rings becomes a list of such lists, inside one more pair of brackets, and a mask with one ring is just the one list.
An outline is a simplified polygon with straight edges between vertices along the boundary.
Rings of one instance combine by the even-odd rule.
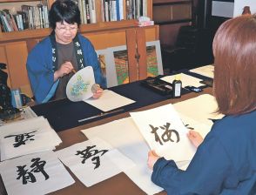
[[256, 16], [221, 24], [213, 40], [214, 95], [219, 112], [238, 115], [256, 109]]

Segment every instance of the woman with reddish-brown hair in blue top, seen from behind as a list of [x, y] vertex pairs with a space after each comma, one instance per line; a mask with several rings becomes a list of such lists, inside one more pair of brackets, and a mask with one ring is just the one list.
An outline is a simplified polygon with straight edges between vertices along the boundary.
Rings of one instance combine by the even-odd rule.
[[256, 16], [222, 24], [213, 41], [214, 95], [219, 112], [205, 137], [190, 131], [198, 149], [185, 171], [148, 154], [152, 181], [168, 194], [256, 194]]

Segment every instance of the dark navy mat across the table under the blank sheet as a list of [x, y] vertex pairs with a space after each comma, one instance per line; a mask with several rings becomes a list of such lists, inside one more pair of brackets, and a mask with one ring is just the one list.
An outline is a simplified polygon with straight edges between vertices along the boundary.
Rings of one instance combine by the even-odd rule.
[[[101, 118], [108, 118], [121, 112], [132, 111], [134, 109], [171, 98], [171, 96], [162, 96], [155, 91], [147, 89], [139, 84], [139, 82], [118, 85], [110, 88], [110, 90], [115, 91], [126, 98], [131, 98], [136, 102], [125, 105], [123, 107], [124, 111], [112, 113], [100, 118], [93, 118], [82, 123], [78, 123], [78, 120], [98, 115], [102, 111], [90, 104], [86, 104], [84, 102], [71, 102], [68, 99], [52, 101], [46, 104], [37, 104], [31, 108], [36, 112], [37, 116], [44, 116], [44, 118], [47, 118], [55, 131], [64, 131], [81, 124], [90, 123]], [[187, 92], [189, 91], [182, 90], [182, 94]]]

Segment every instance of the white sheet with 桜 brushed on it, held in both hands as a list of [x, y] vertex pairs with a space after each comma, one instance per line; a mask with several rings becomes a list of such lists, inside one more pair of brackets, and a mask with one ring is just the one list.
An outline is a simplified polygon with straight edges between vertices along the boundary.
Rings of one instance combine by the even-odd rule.
[[174, 161], [192, 159], [196, 149], [187, 138], [188, 131], [172, 104], [130, 112], [130, 115], [145, 141], [159, 156]]

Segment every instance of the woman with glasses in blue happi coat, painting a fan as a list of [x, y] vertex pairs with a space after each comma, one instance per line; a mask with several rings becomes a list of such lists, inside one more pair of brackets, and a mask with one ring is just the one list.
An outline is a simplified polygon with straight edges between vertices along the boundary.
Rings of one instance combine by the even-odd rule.
[[[49, 23], [51, 35], [31, 50], [27, 60], [37, 103], [66, 98], [65, 88], [74, 72], [89, 65], [93, 68], [96, 83], [105, 87], [91, 42], [77, 32], [81, 24], [77, 4], [70, 0], [55, 1], [49, 12]], [[98, 87], [93, 97], [101, 95], [102, 89]]]

